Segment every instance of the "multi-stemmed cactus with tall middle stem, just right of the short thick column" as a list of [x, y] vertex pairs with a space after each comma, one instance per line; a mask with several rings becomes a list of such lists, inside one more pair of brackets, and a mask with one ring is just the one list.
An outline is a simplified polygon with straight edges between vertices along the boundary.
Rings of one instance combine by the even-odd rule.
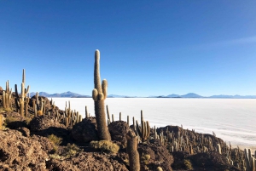
[[150, 134], [150, 127], [149, 127], [149, 123], [144, 122], [143, 120], [143, 111], [141, 111], [141, 127], [139, 127], [137, 121], [137, 133], [139, 134], [139, 136], [142, 138], [142, 141], [146, 141], [148, 140], [149, 134]]

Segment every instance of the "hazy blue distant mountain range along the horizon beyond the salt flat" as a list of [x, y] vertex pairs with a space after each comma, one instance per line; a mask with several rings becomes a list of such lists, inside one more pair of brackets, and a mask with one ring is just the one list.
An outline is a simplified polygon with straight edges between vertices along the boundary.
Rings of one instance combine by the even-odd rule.
[[[36, 93], [30, 93], [30, 96], [34, 96]], [[70, 91], [64, 92], [62, 94], [48, 94], [46, 92], [39, 92], [40, 96], [44, 97], [69, 97], [69, 98], [91, 98], [91, 95], [82, 95], [76, 94]], [[148, 97], [138, 97], [138, 96], [128, 96], [128, 95], [116, 95], [116, 94], [109, 94], [108, 98], [212, 98], [212, 99], [256, 99], [256, 95], [212, 95], [208, 97], [201, 96], [199, 94], [189, 93], [189, 94], [169, 94], [169, 95], [158, 95], [158, 96], [148, 96]]]

